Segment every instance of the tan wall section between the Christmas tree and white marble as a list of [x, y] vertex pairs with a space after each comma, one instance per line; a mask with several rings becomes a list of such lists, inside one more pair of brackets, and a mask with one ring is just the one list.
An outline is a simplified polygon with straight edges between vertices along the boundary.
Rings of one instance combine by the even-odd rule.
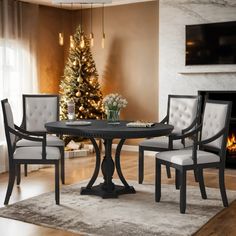
[[[105, 49], [101, 48], [101, 8], [94, 9], [92, 48], [104, 95], [121, 93], [129, 104], [125, 119], [158, 117], [157, 1], [105, 8]], [[90, 11], [83, 12], [90, 33]]]

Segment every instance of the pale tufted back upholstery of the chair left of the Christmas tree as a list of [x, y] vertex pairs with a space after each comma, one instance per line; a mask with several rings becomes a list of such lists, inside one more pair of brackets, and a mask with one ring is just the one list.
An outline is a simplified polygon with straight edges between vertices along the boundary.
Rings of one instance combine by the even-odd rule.
[[57, 98], [26, 98], [26, 129], [28, 131], [44, 131], [44, 124], [57, 121]]

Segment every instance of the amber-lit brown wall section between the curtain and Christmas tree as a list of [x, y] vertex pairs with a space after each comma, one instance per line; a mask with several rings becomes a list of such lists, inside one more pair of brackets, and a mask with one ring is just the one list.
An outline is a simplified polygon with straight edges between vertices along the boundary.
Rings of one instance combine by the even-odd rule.
[[65, 38], [71, 32], [71, 13], [67, 10], [39, 7], [38, 77], [41, 93], [58, 93], [64, 69], [64, 54], [68, 45], [58, 44], [58, 33], [63, 29]]

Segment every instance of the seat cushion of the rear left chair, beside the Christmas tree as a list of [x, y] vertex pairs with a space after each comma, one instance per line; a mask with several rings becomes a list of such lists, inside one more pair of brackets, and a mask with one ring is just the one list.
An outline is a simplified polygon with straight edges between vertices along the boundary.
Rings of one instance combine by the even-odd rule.
[[[41, 146], [41, 142], [35, 142], [31, 140], [21, 139], [16, 143], [17, 147], [32, 147]], [[59, 147], [64, 146], [64, 141], [57, 136], [47, 135], [47, 146]]]

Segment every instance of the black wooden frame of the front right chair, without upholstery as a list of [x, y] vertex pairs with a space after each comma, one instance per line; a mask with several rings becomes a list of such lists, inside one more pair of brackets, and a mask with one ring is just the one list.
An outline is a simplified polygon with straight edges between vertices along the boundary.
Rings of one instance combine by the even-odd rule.
[[[209, 139], [201, 140], [201, 131], [202, 125], [199, 125], [196, 129], [191, 132], [185, 133], [184, 135], [176, 135], [175, 139], [182, 139], [186, 137], [193, 137], [193, 147], [192, 147], [192, 159], [193, 165], [177, 165], [175, 163], [171, 163], [169, 161], [158, 159], [158, 155], [156, 157], [156, 177], [155, 177], [155, 200], [159, 202], [161, 199], [161, 165], [165, 165], [168, 167], [175, 168], [175, 184], [176, 189], [180, 189], [180, 212], [185, 213], [186, 210], [186, 172], [188, 170], [193, 170], [197, 175], [197, 180], [199, 182], [200, 192], [203, 199], [207, 199], [207, 194], [205, 190], [204, 178], [203, 178], [203, 169], [204, 168], [218, 168], [219, 169], [219, 187], [220, 193], [222, 197], [222, 202], [224, 207], [228, 207], [228, 199], [225, 190], [225, 181], [224, 181], [224, 170], [225, 170], [225, 157], [226, 157], [226, 143], [228, 137], [232, 102], [226, 101], [213, 101], [207, 100], [209, 103], [217, 103], [217, 104], [227, 104], [227, 114], [226, 114], [226, 122], [225, 127], [220, 130], [217, 134], [212, 136]], [[200, 140], [198, 140], [200, 137]], [[211, 147], [207, 144], [212, 141], [222, 137], [221, 148]], [[220, 157], [220, 162], [214, 163], [197, 163], [197, 150], [209, 151], [213, 153], [217, 153]]]

